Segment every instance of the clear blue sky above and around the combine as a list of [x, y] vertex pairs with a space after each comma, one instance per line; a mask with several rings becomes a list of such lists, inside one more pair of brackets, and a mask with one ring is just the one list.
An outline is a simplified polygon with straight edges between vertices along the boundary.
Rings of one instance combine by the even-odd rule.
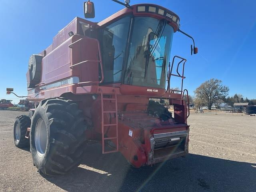
[[[110, 0], [94, 0], [99, 22], [123, 7]], [[180, 16], [181, 30], [194, 37], [199, 53], [190, 56], [191, 40], [176, 32], [171, 58], [188, 59], [184, 87], [190, 94], [204, 81], [217, 78], [230, 95], [256, 98], [256, 1], [253, 0], [131, 0], [131, 4], [154, 3]], [[83, 1], [1, 0], [0, 6], [0, 98], [18, 102], [5, 94], [13, 87], [26, 95], [28, 59], [52, 43], [57, 32], [74, 17], [83, 18]]]

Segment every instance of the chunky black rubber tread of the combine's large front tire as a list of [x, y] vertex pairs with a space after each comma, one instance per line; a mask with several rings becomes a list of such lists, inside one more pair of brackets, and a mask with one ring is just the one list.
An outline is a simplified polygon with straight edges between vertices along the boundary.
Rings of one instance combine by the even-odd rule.
[[38, 171], [45, 175], [66, 174], [78, 166], [84, 154], [86, 122], [72, 100], [47, 99], [39, 104], [50, 124], [49, 156]]

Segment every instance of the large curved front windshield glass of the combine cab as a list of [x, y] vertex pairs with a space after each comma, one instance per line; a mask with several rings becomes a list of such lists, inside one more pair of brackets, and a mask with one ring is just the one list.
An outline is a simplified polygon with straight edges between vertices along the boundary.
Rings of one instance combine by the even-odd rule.
[[166, 20], [134, 18], [124, 84], [165, 88], [173, 33]]

